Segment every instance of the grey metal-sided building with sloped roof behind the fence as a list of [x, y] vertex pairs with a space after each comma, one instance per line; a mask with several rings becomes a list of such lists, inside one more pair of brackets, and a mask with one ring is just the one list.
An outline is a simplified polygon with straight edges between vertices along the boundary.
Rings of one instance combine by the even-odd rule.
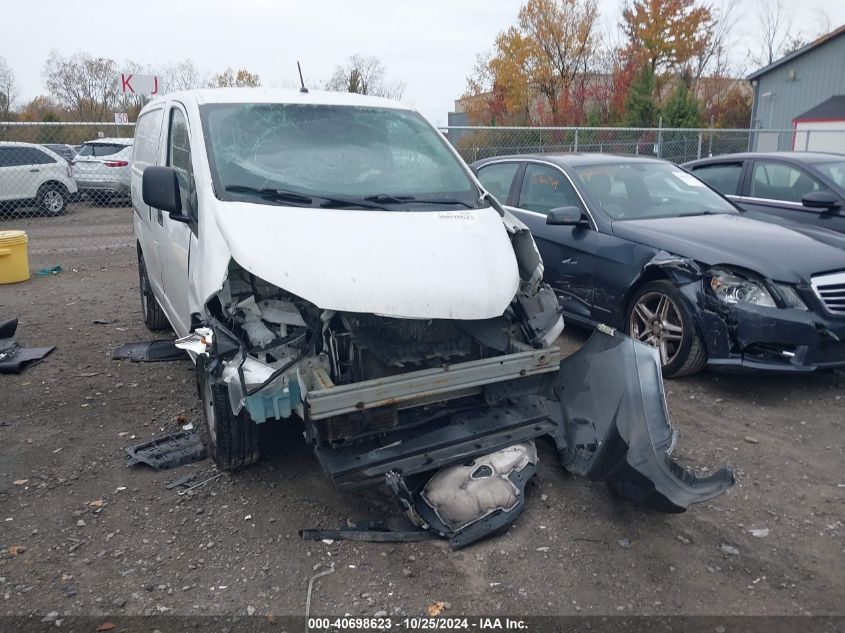
[[[845, 25], [750, 74], [751, 125], [792, 129], [796, 119], [831, 97], [845, 95]], [[754, 149], [789, 150], [793, 135], [758, 133]]]

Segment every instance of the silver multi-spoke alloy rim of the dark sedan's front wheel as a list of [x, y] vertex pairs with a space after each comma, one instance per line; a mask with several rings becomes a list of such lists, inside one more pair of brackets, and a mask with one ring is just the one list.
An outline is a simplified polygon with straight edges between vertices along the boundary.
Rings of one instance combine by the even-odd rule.
[[680, 310], [661, 292], [644, 294], [631, 310], [628, 333], [631, 338], [656, 347], [661, 364], [668, 365], [677, 358], [684, 338]]

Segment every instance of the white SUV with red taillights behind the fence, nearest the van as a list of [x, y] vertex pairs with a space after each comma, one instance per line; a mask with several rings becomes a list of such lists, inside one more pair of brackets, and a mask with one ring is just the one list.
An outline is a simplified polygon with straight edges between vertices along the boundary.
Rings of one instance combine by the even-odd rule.
[[129, 195], [131, 138], [101, 138], [82, 144], [73, 161], [79, 190], [97, 203]]

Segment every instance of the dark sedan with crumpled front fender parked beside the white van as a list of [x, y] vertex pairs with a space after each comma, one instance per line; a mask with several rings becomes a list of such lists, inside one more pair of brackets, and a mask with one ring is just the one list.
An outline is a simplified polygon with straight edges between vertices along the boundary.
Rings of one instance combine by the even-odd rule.
[[564, 314], [658, 347], [664, 375], [845, 366], [845, 237], [750, 219], [657, 159], [502, 156], [474, 168], [531, 229]]

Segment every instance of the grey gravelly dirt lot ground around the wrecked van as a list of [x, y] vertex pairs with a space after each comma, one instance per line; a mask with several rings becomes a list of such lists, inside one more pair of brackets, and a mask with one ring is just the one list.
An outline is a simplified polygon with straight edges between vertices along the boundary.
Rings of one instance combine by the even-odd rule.
[[[0, 614], [302, 614], [309, 578], [332, 565], [312, 613], [417, 615], [435, 600], [452, 614], [843, 613], [838, 372], [671, 381], [679, 455], [733, 464], [727, 494], [681, 515], [644, 512], [568, 476], [543, 447], [525, 514], [459, 552], [301, 541], [300, 529], [378, 518], [393, 502], [336, 492], [294, 425], [271, 430], [258, 466], [197, 494], [165, 483], [213, 474], [210, 461], [127, 469], [123, 446], [201, 415], [190, 363], [111, 360], [150, 338], [130, 218], [77, 208], [0, 226], [29, 232], [34, 268], [65, 269], [0, 287], [0, 318], [20, 318], [19, 340], [56, 345], [0, 376]], [[561, 342], [571, 351], [584, 338]]]

